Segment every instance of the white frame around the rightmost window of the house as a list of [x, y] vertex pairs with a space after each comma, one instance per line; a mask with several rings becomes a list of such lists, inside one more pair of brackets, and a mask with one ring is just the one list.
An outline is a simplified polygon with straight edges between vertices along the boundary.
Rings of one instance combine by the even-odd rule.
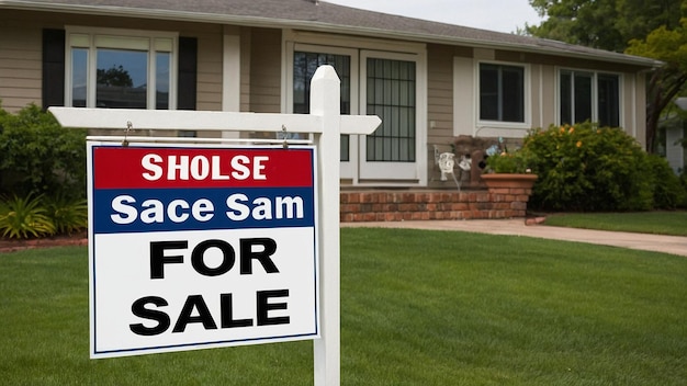
[[[562, 125], [563, 124], [563, 117], [561, 114], [561, 109], [563, 107], [563, 101], [562, 101], [562, 88], [563, 88], [563, 82], [562, 82], [562, 76], [564, 72], [567, 72], [571, 76], [571, 82], [574, 84], [575, 83], [575, 75], [590, 75], [592, 76], [592, 95], [590, 95], [590, 104], [592, 104], [592, 117], [590, 117], [590, 122], [594, 123], [599, 123], [599, 76], [613, 76], [617, 77], [618, 79], [618, 90], [617, 94], [618, 94], [618, 101], [616, 101], [617, 106], [618, 106], [618, 127], [624, 127], [624, 114], [623, 114], [623, 106], [624, 106], [624, 92], [623, 92], [623, 73], [621, 72], [615, 72], [615, 71], [601, 71], [601, 70], [594, 70], [594, 69], [583, 69], [583, 68], [570, 68], [570, 67], [558, 67], [556, 71], [555, 71], [555, 86], [556, 86], [556, 90], [555, 90], [555, 121], [558, 125]], [[573, 121], [572, 125], [581, 123], [577, 122], [575, 118], [575, 105], [574, 105], [574, 93], [575, 90], [571, 89], [571, 96], [568, 98], [571, 100], [571, 121]], [[572, 98], [572, 99], [571, 99]]]

